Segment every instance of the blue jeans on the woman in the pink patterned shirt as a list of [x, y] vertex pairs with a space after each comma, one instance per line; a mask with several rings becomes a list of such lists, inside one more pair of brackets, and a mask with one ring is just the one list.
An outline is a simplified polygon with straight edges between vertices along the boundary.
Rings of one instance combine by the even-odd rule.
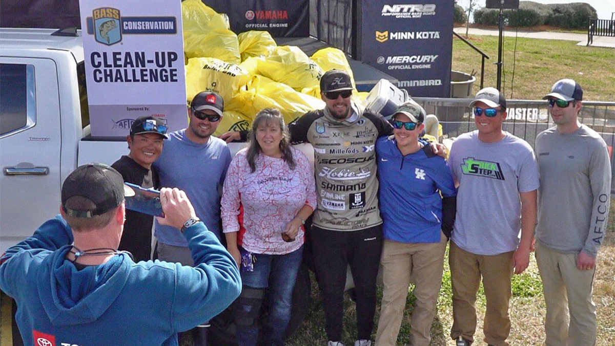
[[[268, 288], [269, 317], [264, 326], [264, 345], [284, 345], [284, 332], [290, 321], [293, 303], [293, 289], [297, 272], [303, 258], [303, 246], [288, 254], [254, 254], [256, 262], [253, 272], [241, 270], [241, 280], [245, 286]], [[241, 311], [249, 311], [251, 306], [238, 306]], [[237, 325], [237, 344], [255, 346], [258, 342], [258, 324]]]

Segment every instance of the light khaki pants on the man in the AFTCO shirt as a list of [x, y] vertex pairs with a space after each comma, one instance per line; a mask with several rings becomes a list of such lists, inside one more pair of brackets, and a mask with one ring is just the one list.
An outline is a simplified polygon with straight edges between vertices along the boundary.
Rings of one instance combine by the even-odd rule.
[[592, 301], [595, 269], [577, 269], [576, 257], [536, 242], [536, 262], [547, 304], [547, 346], [596, 344], [596, 305]]

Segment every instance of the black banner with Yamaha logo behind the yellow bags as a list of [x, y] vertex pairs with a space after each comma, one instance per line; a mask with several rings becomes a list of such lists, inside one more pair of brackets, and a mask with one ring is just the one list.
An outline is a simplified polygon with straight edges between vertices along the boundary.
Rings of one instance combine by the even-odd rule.
[[231, 30], [269, 31], [273, 37], [309, 36], [309, 0], [202, 0], [228, 15]]

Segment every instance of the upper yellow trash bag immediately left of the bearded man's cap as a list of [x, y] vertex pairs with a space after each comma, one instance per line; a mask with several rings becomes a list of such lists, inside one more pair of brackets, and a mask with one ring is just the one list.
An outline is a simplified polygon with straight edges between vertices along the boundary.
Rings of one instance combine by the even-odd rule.
[[295, 90], [319, 85], [323, 71], [298, 47], [276, 47], [269, 57], [258, 61], [258, 73]]

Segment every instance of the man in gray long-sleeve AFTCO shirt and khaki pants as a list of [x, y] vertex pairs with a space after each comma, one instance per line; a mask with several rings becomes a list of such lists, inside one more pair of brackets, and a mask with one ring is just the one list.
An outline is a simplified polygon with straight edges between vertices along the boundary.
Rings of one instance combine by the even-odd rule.
[[581, 85], [562, 79], [544, 98], [557, 125], [536, 137], [536, 261], [547, 304], [546, 345], [593, 346], [592, 281], [606, 232], [611, 163], [605, 141], [579, 123]]

